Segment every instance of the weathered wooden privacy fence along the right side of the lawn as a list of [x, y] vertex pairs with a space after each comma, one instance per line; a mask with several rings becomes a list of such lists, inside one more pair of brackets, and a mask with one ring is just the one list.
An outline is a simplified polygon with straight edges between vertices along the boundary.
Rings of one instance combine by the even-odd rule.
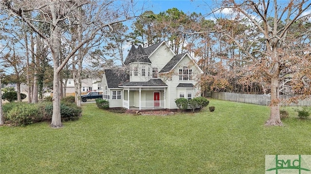
[[[260, 94], [237, 94], [229, 92], [212, 92], [211, 97], [213, 99], [219, 99], [231, 102], [243, 102], [258, 105], [270, 105], [271, 95], [260, 95]], [[297, 102], [288, 103], [289, 99], [297, 97], [297, 95], [281, 95], [280, 105], [281, 106], [311, 106], [311, 96], [304, 100], [297, 100]]]

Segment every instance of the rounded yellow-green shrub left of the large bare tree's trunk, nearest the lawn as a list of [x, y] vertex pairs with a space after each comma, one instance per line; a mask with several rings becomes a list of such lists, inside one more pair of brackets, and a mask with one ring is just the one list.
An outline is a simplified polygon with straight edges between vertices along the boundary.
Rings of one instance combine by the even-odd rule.
[[7, 119], [14, 126], [28, 125], [41, 121], [38, 106], [32, 103], [18, 104], [7, 114]]

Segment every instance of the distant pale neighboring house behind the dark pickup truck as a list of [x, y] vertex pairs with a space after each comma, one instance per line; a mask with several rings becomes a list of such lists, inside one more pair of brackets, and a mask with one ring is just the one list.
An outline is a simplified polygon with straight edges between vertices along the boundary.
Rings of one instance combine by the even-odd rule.
[[[100, 83], [97, 83], [99, 80], [96, 79], [82, 79], [81, 92], [86, 93], [89, 91], [99, 91]], [[65, 80], [63, 80], [65, 83]], [[73, 79], [68, 79], [66, 84], [66, 93], [74, 93], [74, 83]]]

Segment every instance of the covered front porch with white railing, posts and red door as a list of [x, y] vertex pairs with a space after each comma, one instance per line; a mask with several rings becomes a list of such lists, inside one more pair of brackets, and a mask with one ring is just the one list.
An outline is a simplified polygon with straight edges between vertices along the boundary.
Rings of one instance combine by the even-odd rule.
[[124, 87], [123, 108], [129, 110], [165, 109], [167, 87]]

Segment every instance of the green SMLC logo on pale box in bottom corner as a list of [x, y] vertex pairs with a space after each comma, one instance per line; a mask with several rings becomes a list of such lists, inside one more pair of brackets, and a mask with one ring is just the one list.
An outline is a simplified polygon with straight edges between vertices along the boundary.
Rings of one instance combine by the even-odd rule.
[[310, 159], [311, 155], [266, 155], [266, 174], [311, 174]]

